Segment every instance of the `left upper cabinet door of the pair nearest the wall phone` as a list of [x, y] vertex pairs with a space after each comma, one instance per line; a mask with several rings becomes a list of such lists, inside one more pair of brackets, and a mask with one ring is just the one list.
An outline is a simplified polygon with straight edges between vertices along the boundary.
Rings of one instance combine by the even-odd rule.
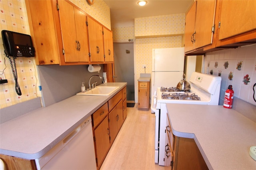
[[78, 62], [74, 7], [65, 0], [59, 0], [58, 5], [65, 62]]

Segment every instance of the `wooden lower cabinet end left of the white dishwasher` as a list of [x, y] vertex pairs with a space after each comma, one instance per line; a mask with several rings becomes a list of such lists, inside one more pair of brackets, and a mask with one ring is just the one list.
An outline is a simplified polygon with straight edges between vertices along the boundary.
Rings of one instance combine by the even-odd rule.
[[6, 170], [36, 170], [34, 160], [22, 159], [4, 154], [0, 154], [0, 158], [6, 166]]

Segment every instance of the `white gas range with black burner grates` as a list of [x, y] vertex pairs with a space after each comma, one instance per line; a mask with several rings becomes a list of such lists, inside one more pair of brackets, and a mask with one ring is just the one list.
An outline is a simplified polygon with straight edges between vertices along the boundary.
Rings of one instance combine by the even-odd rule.
[[193, 72], [190, 78], [190, 90], [180, 92], [180, 90], [177, 90], [175, 87], [157, 88], [156, 96], [152, 96], [153, 100], [151, 104], [151, 110], [155, 112], [156, 115], [155, 163], [170, 166], [167, 162], [172, 160], [171, 156], [166, 157], [165, 152], [166, 104], [218, 105], [220, 83], [220, 76]]

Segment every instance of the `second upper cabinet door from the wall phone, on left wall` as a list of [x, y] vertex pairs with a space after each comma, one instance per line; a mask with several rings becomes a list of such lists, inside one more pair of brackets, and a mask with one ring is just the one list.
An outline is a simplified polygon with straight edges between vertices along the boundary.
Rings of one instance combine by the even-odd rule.
[[89, 62], [88, 30], [86, 16], [80, 10], [74, 8], [76, 22], [76, 39], [78, 41], [78, 57], [80, 62]]

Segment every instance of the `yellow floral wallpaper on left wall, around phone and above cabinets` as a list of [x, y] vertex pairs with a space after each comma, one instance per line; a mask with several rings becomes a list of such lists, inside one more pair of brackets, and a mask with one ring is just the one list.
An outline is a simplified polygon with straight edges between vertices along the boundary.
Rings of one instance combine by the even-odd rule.
[[[110, 27], [110, 8], [103, 0], [96, 0], [89, 5], [86, 0], [71, 0], [87, 14], [98, 20], [102, 25]], [[1, 30], [30, 34], [25, 0], [0, 0], [0, 25]], [[0, 84], [0, 108], [40, 97], [39, 79], [34, 57], [18, 57], [16, 68], [18, 83], [22, 92], [18, 96], [15, 91], [15, 81], [7, 57], [4, 56], [2, 36], [0, 35], [0, 78], [5, 78], [8, 83]]]

